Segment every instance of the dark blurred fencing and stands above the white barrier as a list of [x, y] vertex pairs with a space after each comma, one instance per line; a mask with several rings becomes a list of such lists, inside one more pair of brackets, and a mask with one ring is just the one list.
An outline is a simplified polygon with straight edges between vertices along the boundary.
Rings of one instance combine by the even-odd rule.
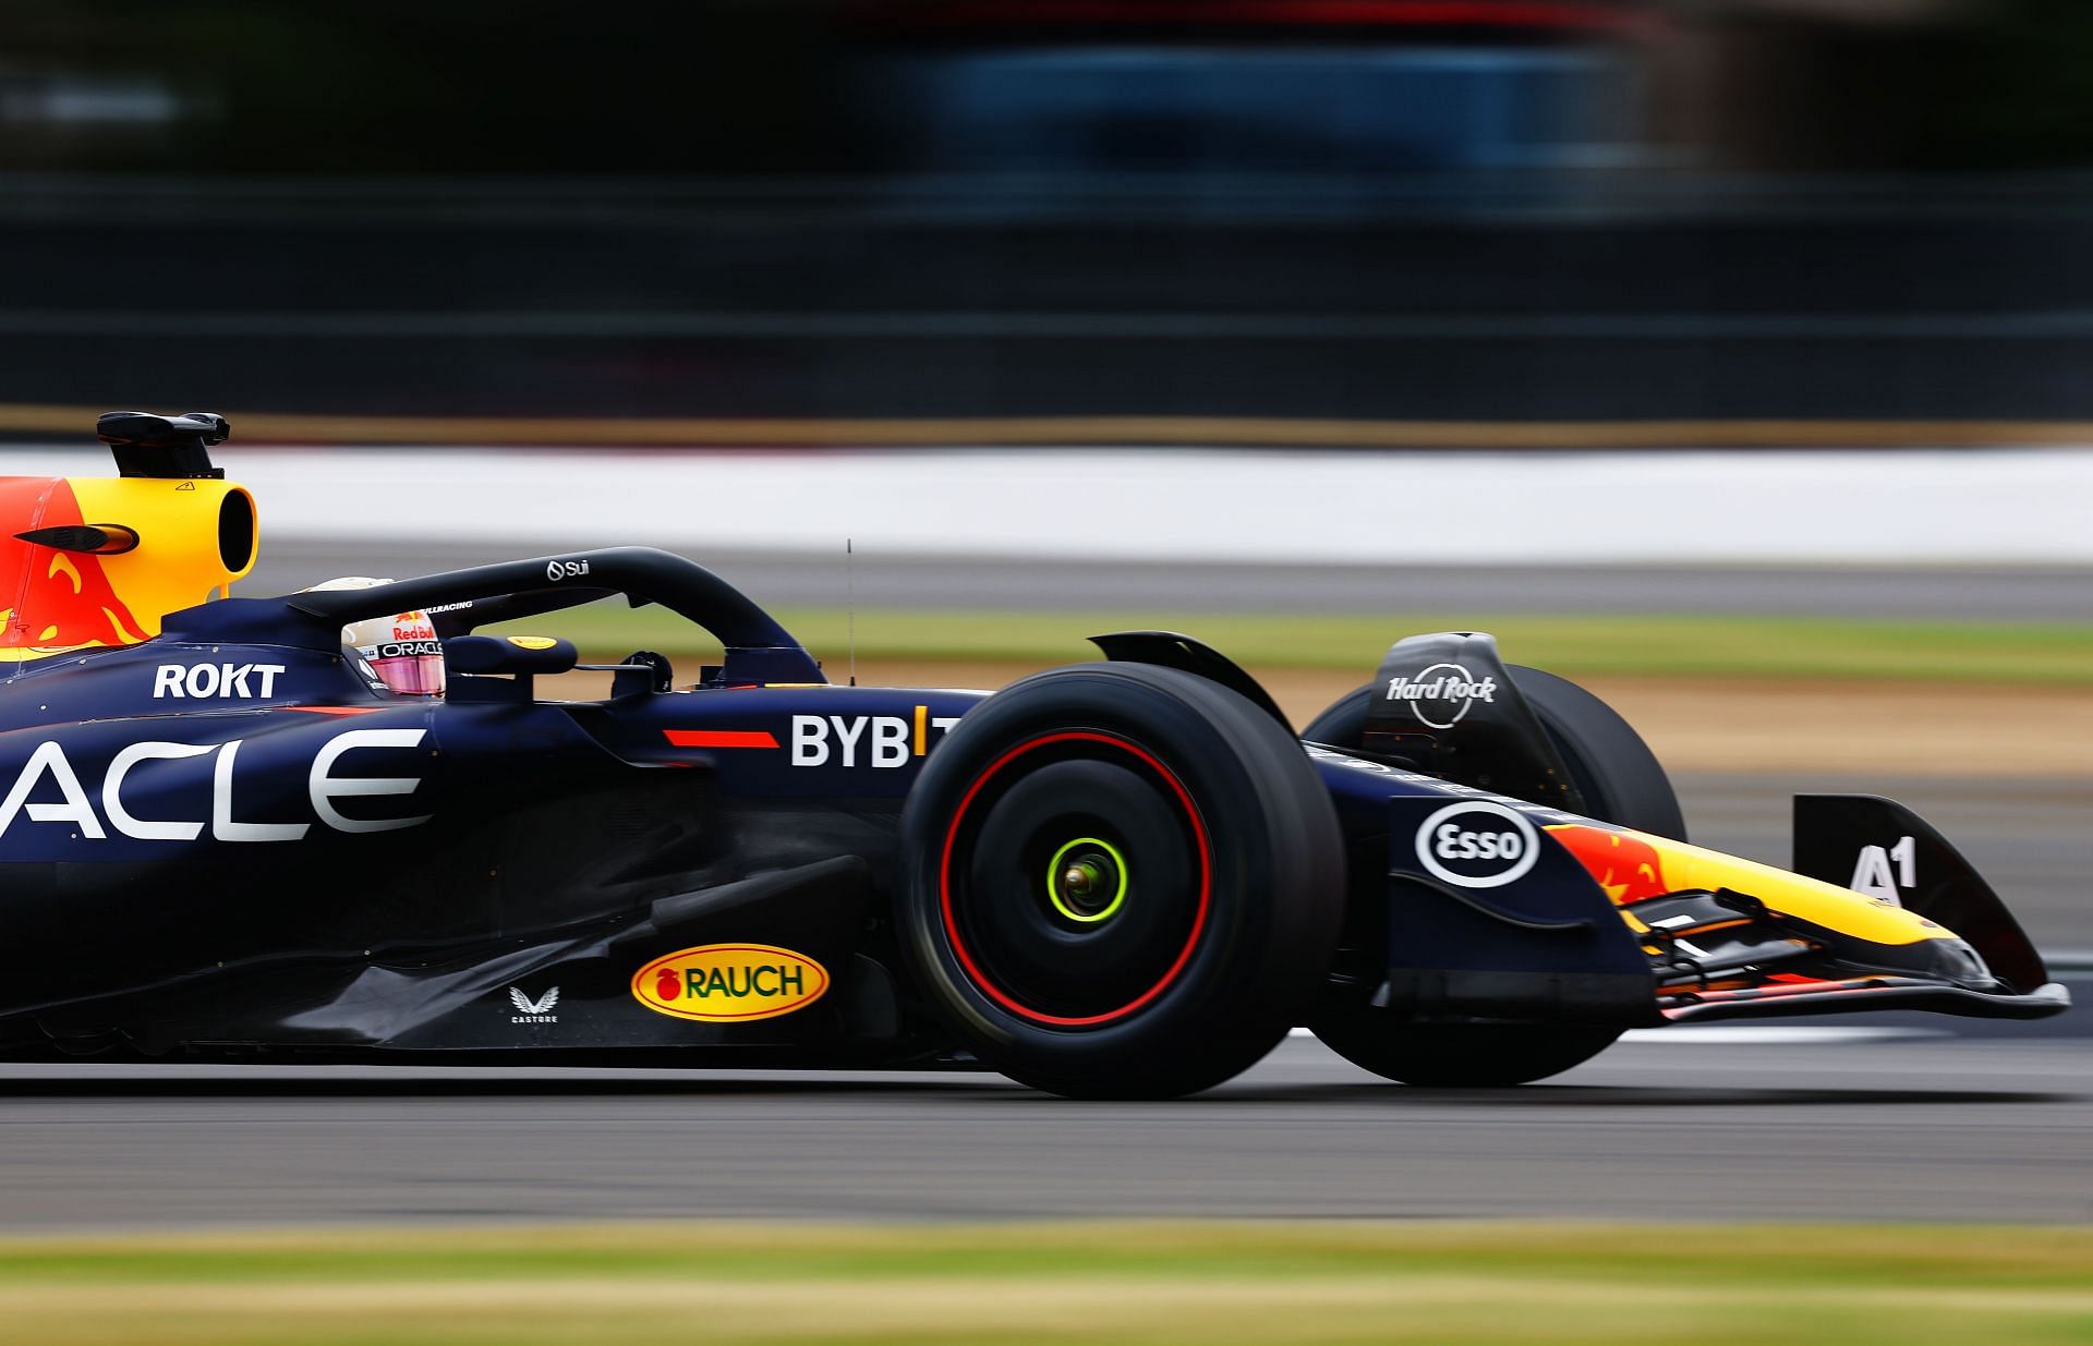
[[2083, 419], [2089, 98], [2076, 0], [10, 0], [0, 402]]

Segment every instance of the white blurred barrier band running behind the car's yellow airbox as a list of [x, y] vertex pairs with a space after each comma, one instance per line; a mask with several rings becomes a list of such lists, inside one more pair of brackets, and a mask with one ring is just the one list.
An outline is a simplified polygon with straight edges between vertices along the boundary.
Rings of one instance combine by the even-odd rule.
[[[278, 534], [890, 555], [2093, 563], [2093, 450], [218, 450]], [[107, 475], [96, 448], [0, 473]]]

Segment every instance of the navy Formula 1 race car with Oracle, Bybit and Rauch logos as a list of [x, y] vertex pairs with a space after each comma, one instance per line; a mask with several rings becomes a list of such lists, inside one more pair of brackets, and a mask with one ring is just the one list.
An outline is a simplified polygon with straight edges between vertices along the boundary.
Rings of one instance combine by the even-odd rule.
[[[1796, 800], [1794, 873], [1689, 846], [1628, 724], [1484, 634], [1398, 641], [1302, 737], [1170, 632], [996, 693], [837, 687], [636, 546], [234, 599], [257, 530], [209, 463], [226, 423], [100, 433], [115, 479], [0, 479], [8, 1059], [986, 1065], [1164, 1097], [1296, 1024], [1484, 1086], [1633, 1026], [2068, 1005], [1905, 808]], [[603, 699], [540, 699], [580, 668], [557, 613], [605, 599], [720, 664], [640, 651]], [[442, 695], [343, 645], [391, 618]], [[523, 618], [553, 634], [481, 632]]]

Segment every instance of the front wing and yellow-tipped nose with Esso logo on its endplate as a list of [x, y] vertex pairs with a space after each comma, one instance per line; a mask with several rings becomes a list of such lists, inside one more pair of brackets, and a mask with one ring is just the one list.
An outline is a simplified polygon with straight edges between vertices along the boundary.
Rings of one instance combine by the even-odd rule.
[[[1965, 938], [1894, 894], [1559, 823], [1513, 800], [1386, 808], [1388, 961], [1371, 1003], [1406, 1019], [1658, 1026], [1875, 1009], [2032, 1019], [2070, 1007], [1980, 881], [1980, 892], [1951, 883]], [[1821, 831], [1798, 835], [1825, 848]]]

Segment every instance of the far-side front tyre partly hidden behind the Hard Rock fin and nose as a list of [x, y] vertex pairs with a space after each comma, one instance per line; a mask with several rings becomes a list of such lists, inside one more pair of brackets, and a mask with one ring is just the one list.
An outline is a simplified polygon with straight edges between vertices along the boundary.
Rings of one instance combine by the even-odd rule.
[[[1589, 816], [1685, 842], [1685, 814], [1664, 766], [1612, 705], [1538, 668], [1511, 664], [1505, 672], [1561, 754]], [[1358, 747], [1373, 691], [1369, 685], [1340, 697], [1302, 737]], [[1404, 1084], [1530, 1084], [1582, 1065], [1620, 1036], [1601, 1024], [1404, 1024], [1358, 996], [1358, 988], [1325, 992], [1308, 1028], [1346, 1061]]]

